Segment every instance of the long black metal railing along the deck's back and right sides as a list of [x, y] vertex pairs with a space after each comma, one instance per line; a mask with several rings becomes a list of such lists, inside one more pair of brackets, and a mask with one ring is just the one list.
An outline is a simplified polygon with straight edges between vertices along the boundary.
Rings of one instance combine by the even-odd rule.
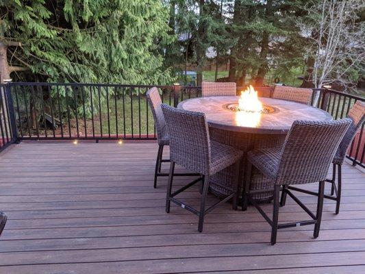
[[[146, 92], [152, 86], [118, 84], [9, 83], [3, 86], [3, 144], [25, 139], [155, 139]], [[157, 86], [162, 101], [177, 105], [200, 97], [198, 86]], [[240, 88], [238, 88], [240, 90]], [[319, 92], [316, 107], [333, 119], [347, 116], [355, 101], [365, 99], [329, 89]], [[11, 95], [11, 96], [10, 96]], [[5, 100], [4, 100], [5, 99]], [[14, 101], [14, 106], [13, 106]], [[312, 98], [314, 105], [314, 98]], [[14, 127], [12, 125], [15, 125]], [[364, 126], [347, 158], [364, 165]], [[5, 142], [4, 142], [5, 141]]]

